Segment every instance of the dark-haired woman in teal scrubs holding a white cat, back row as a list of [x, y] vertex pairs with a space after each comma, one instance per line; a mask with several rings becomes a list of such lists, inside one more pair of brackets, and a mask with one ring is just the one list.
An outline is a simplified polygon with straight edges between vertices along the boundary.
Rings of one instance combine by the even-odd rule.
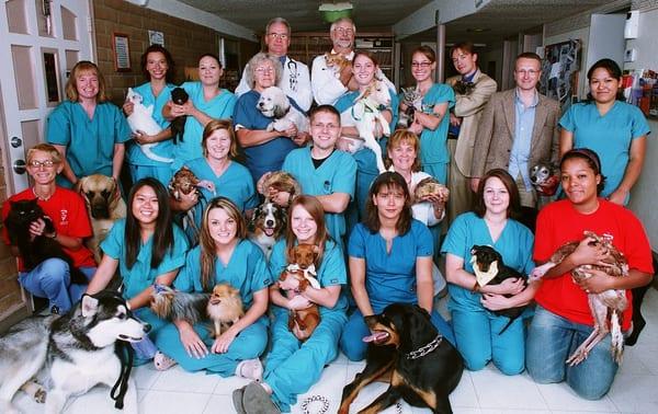
[[[163, 159], [173, 160], [173, 142], [171, 141], [171, 129], [169, 122], [162, 116], [162, 107], [171, 100], [171, 90], [173, 84], [173, 59], [169, 50], [160, 45], [150, 45], [144, 55], [141, 55], [141, 71], [147, 82], [133, 90], [141, 95], [144, 106], [154, 107], [152, 118], [162, 127], [162, 130], [155, 136], [135, 133], [133, 140], [128, 141], [126, 154], [131, 176], [133, 182], [144, 177], [152, 176], [164, 185], [169, 184], [173, 172], [171, 162], [151, 160], [146, 157], [138, 143], [156, 143], [151, 151]], [[126, 116], [133, 114], [133, 103], [126, 101], [123, 105]]]

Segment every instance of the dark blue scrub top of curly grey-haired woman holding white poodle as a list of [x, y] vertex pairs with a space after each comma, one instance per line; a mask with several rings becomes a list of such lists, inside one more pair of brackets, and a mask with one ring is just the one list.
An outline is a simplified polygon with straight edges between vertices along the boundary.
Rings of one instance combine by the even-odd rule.
[[[268, 128], [268, 125], [272, 123], [273, 118], [264, 116], [256, 108], [259, 99], [260, 93], [254, 90], [240, 95], [234, 114], [236, 126], [239, 125], [250, 130]], [[295, 101], [292, 99], [290, 100], [291, 104], [295, 105], [295, 107], [299, 110], [299, 106], [295, 103]], [[245, 154], [247, 156], [247, 168], [251, 172], [253, 181], [258, 182], [258, 180], [266, 172], [280, 171], [281, 165], [283, 165], [283, 160], [288, 152], [295, 148], [297, 148], [295, 142], [293, 142], [293, 140], [288, 137], [284, 136], [276, 137], [268, 142], [254, 147], [245, 148]]]

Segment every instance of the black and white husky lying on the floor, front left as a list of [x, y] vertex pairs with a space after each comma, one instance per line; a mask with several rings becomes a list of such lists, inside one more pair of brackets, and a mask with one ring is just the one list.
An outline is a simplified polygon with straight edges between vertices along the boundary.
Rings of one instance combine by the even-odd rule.
[[[11, 400], [21, 388], [37, 402], [45, 396], [44, 412], [56, 414], [70, 395], [99, 383], [112, 387], [114, 407], [123, 409], [125, 401], [126, 412], [136, 413], [132, 349], [125, 343], [141, 341], [147, 331], [125, 300], [109, 290], [84, 295], [64, 317], [30, 318], [14, 325], [0, 337], [0, 413], [19, 412]], [[33, 377], [50, 384], [47, 395], [30, 381]]]

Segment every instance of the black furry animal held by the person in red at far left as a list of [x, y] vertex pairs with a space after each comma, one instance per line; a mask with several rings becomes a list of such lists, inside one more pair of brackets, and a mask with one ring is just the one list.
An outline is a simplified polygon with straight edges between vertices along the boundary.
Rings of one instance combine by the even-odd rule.
[[[71, 283], [87, 284], [87, 277], [80, 269], [73, 267], [73, 261], [61, 249], [61, 245], [56, 240], [44, 235], [52, 234], [55, 227], [38, 206], [36, 198], [10, 202], [10, 205], [11, 208], [4, 219], [4, 226], [7, 226], [10, 243], [19, 248], [25, 269], [32, 271], [47, 258], [61, 258], [69, 265]], [[46, 223], [44, 234], [30, 240], [30, 225], [39, 218]]]

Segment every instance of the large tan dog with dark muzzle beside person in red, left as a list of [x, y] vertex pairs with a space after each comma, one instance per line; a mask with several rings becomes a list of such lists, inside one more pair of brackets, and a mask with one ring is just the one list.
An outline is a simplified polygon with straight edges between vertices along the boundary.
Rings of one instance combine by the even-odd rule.
[[126, 217], [126, 203], [121, 198], [116, 182], [102, 174], [81, 177], [73, 189], [84, 198], [91, 219], [93, 237], [87, 241], [87, 246], [93, 252], [97, 263], [101, 263], [99, 245], [114, 226], [114, 221]]

